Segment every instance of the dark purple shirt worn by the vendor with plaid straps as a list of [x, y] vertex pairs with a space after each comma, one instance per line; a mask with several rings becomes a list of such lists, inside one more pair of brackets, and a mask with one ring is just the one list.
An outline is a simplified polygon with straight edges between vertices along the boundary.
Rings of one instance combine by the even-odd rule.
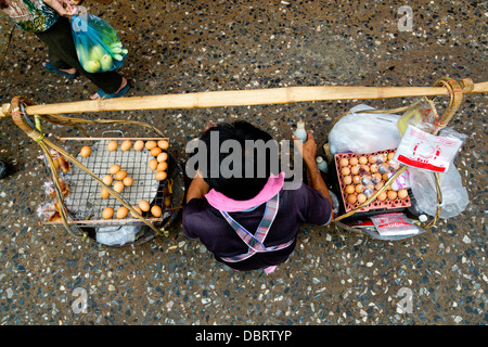
[[[262, 204], [252, 210], [229, 215], [254, 234], [265, 214], [265, 206], [266, 204]], [[275, 246], [295, 239], [304, 223], [328, 223], [331, 213], [331, 203], [307, 184], [301, 184], [297, 190], [281, 190], [278, 214], [265, 240], [265, 246]], [[237, 262], [223, 261], [221, 257], [247, 253], [248, 247], [205, 197], [192, 198], [184, 206], [183, 233], [188, 237], [200, 239], [218, 261], [242, 271], [279, 265], [288, 258], [296, 246], [295, 239], [292, 245], [280, 250], [257, 253]]]

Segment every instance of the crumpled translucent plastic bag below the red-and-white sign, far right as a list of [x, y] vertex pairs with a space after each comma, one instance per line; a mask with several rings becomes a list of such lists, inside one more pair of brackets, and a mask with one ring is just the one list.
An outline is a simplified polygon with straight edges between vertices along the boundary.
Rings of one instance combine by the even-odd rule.
[[[437, 190], [433, 172], [409, 168], [412, 193], [419, 208], [429, 216], [436, 215]], [[461, 214], [470, 203], [467, 191], [461, 181], [461, 175], [454, 164], [449, 166], [447, 172], [439, 174], [442, 203], [439, 217], [452, 218]]]

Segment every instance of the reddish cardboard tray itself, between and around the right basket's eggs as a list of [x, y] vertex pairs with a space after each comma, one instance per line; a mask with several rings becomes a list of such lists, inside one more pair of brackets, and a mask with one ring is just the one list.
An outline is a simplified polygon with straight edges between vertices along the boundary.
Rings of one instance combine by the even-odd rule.
[[[371, 163], [370, 162], [370, 157], [377, 157], [378, 155], [382, 155], [382, 157], [385, 159], [385, 163], [388, 164], [389, 163], [389, 159], [388, 159], [388, 154], [389, 153], [395, 153], [395, 150], [386, 150], [386, 151], [380, 151], [380, 152], [374, 152], [374, 153], [365, 153], [365, 154], [343, 153], [343, 154], [336, 154], [334, 156], [334, 164], [335, 164], [335, 167], [336, 167], [336, 174], [337, 174], [338, 185], [339, 185], [339, 194], [342, 196], [342, 202], [343, 202], [344, 209], [345, 209], [346, 213], [350, 211], [351, 209], [355, 209], [357, 206], [359, 206], [360, 202], [355, 202], [354, 204], [348, 202], [348, 195], [349, 194], [346, 192], [346, 187], [347, 185], [354, 185], [355, 187], [355, 192], [352, 194], [355, 194], [356, 197], [357, 197], [359, 195], [359, 193], [356, 192], [356, 188], [357, 188], [358, 183], [356, 181], [356, 183], [351, 182], [350, 184], [345, 184], [345, 182], [344, 182], [345, 176], [350, 176], [352, 181], [354, 181], [354, 177], [355, 176], [361, 176], [361, 178], [363, 177], [363, 175], [371, 175], [372, 176], [372, 174], [375, 174], [375, 172], [372, 172], [372, 165], [376, 164], [376, 163]], [[354, 172], [356, 172], [356, 171], [355, 171], [355, 169], [352, 169], [354, 166], [350, 165], [350, 164], [348, 164], [347, 166], [342, 166], [341, 165], [341, 160], [344, 159], [344, 158], [347, 159], [348, 162], [351, 158], [357, 158], [359, 160], [361, 157], [365, 157], [368, 159], [368, 163], [367, 164], [359, 164], [358, 163], [358, 166], [364, 165], [364, 166], [368, 167], [368, 169], [365, 169], [364, 167], [361, 167], [359, 169], [359, 174], [357, 174], [357, 175], [355, 175], [355, 174], [344, 175], [344, 174], [347, 174], [347, 169], [345, 170], [346, 172], [343, 171], [344, 167], [347, 167], [349, 171], [354, 171]], [[390, 157], [393, 157], [393, 156], [390, 155]], [[364, 159], [362, 159], [362, 160], [364, 160]], [[380, 163], [380, 165], [381, 165], [381, 163]], [[368, 170], [368, 171], [364, 172], [365, 170]], [[378, 178], [378, 177], [376, 177], [376, 178]], [[381, 182], [383, 182], [383, 184], [385, 184], [385, 182], [386, 182], [386, 180], [384, 179], [383, 175], [382, 175], [382, 179], [380, 180], [380, 182], [374, 184], [375, 189], [372, 192], [373, 194], [377, 192], [377, 189], [380, 188], [378, 185], [381, 185]], [[362, 182], [360, 184], [362, 184]], [[376, 184], [378, 184], [378, 185], [376, 185]], [[362, 184], [362, 185], [364, 187], [364, 184]], [[388, 193], [388, 190], [386, 190], [385, 192]], [[371, 196], [371, 194], [370, 194], [370, 196]], [[369, 197], [369, 196], [367, 196], [367, 197]], [[411, 206], [411, 202], [410, 202], [409, 194], [407, 194], [407, 196], [404, 198], [400, 198], [398, 196], [396, 198], [393, 198], [393, 200], [386, 197], [383, 201], [381, 201], [380, 198], [376, 198], [375, 201], [373, 201], [369, 205], [358, 209], [358, 213], [375, 211], [375, 210], [380, 211], [380, 210], [390, 210], [390, 209], [403, 209], [403, 208], [407, 208], [409, 206]]]

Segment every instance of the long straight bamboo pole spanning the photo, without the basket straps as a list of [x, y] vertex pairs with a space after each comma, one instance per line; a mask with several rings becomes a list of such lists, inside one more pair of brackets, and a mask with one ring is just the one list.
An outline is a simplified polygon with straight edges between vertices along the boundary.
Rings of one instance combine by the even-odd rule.
[[[462, 92], [488, 92], [488, 81], [461, 81]], [[284, 104], [325, 100], [374, 100], [406, 97], [450, 95], [446, 86], [434, 87], [285, 87], [271, 89], [207, 91], [182, 94], [127, 97], [118, 99], [75, 101], [57, 104], [28, 105], [28, 115], [73, 114], [82, 112], [133, 111], [160, 108], [203, 108]], [[9, 105], [3, 105], [4, 108]]]

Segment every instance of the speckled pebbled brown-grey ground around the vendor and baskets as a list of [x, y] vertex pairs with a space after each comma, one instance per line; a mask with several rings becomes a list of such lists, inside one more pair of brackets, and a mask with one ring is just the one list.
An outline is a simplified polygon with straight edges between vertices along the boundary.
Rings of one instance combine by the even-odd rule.
[[[121, 72], [129, 95], [286, 86], [431, 86], [442, 76], [488, 80], [483, 1], [408, 1], [413, 31], [399, 31], [398, 8], [381, 1], [86, 1], [119, 30], [132, 54]], [[1, 16], [3, 54], [11, 23]], [[13, 28], [0, 62], [0, 101], [87, 100], [95, 88], [40, 68], [46, 49]], [[367, 102], [395, 107], [411, 100]], [[100, 114], [142, 119], [184, 144], [210, 120], [247, 119], [278, 139], [304, 118], [325, 142], [335, 117], [358, 101]], [[270, 275], [229, 272], [181, 233], [134, 248], [104, 247], [38, 224], [46, 200], [40, 150], [1, 119], [0, 323], [13, 324], [486, 324], [486, 95], [467, 95], [451, 125], [468, 134], [455, 159], [471, 203], [431, 231], [381, 242], [304, 226], [291, 259]], [[81, 114], [95, 117], [94, 114]], [[108, 127], [115, 129], [115, 127]], [[100, 133], [106, 128], [92, 129]], [[144, 136], [138, 128], [126, 129]], [[52, 127], [52, 134], [74, 134]], [[72, 309], [75, 288], [86, 313]], [[411, 290], [412, 312], [397, 311]]]

